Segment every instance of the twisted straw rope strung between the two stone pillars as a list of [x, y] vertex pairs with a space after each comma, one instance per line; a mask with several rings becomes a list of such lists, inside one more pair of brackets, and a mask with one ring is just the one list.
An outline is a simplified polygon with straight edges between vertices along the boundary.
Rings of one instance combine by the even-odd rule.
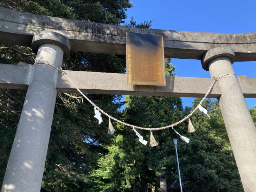
[[[198, 107], [196, 107], [189, 115], [187, 115], [186, 117], [184, 117], [182, 120], [180, 120], [180, 121], [178, 121], [178, 122], [176, 122], [176, 123], [173, 123], [173, 124], [171, 124], [171, 125], [165, 126], [165, 127], [146, 128], [146, 127], [134, 126], [134, 125], [132, 125], [132, 124], [128, 124], [128, 123], [126, 123], [126, 122], [123, 122], [123, 121], [120, 121], [120, 120], [116, 119], [115, 117], [113, 117], [113, 116], [107, 114], [105, 111], [103, 111], [103, 110], [102, 110], [101, 108], [99, 108], [97, 105], [95, 105], [95, 104], [94, 104], [86, 95], [84, 95], [83, 92], [70, 80], [70, 78], [66, 75], [66, 73], [63, 71], [62, 68], [58, 69], [58, 68], [56, 68], [55, 66], [50, 65], [50, 64], [48, 64], [48, 63], [35, 63], [34, 65], [37, 65], [37, 64], [49, 65], [49, 66], [51, 66], [51, 67], [53, 67], [53, 68], [55, 68], [55, 69], [61, 71], [61, 72], [65, 75], [65, 77], [74, 85], [74, 87], [76, 88], [76, 90], [77, 90], [89, 103], [91, 103], [92, 106], [96, 107], [96, 109], [98, 109], [99, 111], [101, 111], [101, 113], [104, 114], [105, 116], [109, 117], [109, 119], [112, 119], [112, 120], [114, 120], [114, 121], [116, 121], [116, 122], [119, 122], [119, 123], [124, 124], [124, 125], [129, 126], [129, 127], [134, 127], [134, 128], [143, 129], [143, 130], [150, 130], [150, 131], [168, 129], [168, 128], [177, 126], [178, 124], [180, 124], [180, 123], [186, 121], [186, 120], [187, 120], [189, 117], [191, 117], [191, 116], [196, 112], [196, 110], [198, 109]], [[206, 99], [206, 97], [210, 94], [210, 92], [211, 92], [211, 90], [212, 90], [214, 84], [216, 83], [216, 81], [218, 81], [220, 78], [222, 78], [222, 77], [224, 77], [224, 76], [226, 76], [226, 75], [236, 75], [236, 74], [235, 74], [235, 73], [228, 73], [228, 74], [222, 75], [222, 76], [220, 76], [220, 77], [212, 77], [212, 78], [214, 79], [214, 81], [213, 81], [211, 87], [209, 87], [209, 90], [207, 91], [207, 93], [205, 94], [204, 98], [200, 101], [199, 104], [202, 104], [202, 103], [204, 102], [204, 100]]]

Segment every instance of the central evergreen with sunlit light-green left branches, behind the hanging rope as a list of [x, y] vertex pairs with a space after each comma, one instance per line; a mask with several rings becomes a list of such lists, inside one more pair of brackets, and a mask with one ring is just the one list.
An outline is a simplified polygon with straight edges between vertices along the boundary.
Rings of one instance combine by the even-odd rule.
[[[171, 60], [166, 59], [165, 64], [166, 75], [174, 75]], [[126, 96], [126, 103], [122, 119], [136, 126], [163, 127], [182, 118], [183, 107], [181, 99], [177, 97]], [[137, 131], [149, 141], [150, 132]], [[168, 163], [165, 158], [170, 155], [169, 145], [175, 133], [172, 129], [153, 133], [159, 146], [146, 147], [138, 141], [130, 127], [119, 124], [115, 142], [108, 148], [109, 153], [98, 161], [98, 169], [92, 172], [94, 187], [91, 191], [104, 191], [106, 187], [109, 191], [115, 191], [117, 186], [117, 191], [157, 188], [159, 177], [165, 177], [162, 175]], [[105, 166], [107, 160], [113, 164]], [[112, 169], [111, 174], [103, 176], [102, 173], [108, 173], [109, 169]]]

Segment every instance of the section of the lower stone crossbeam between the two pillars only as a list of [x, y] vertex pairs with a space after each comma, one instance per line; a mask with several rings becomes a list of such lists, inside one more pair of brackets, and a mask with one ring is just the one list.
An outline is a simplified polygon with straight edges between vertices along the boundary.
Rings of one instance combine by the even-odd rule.
[[[65, 72], [79, 89], [90, 94], [204, 97], [213, 82], [210, 78], [166, 77], [166, 86], [131, 85], [121, 73]], [[65, 76], [59, 76], [57, 87], [59, 92], [78, 92]], [[220, 95], [216, 84], [209, 97]]]

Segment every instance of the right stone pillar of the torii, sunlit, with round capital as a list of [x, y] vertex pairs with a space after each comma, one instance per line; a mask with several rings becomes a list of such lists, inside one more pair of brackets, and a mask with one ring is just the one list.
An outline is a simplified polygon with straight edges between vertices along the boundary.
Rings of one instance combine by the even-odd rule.
[[[206, 52], [202, 66], [211, 76], [234, 73], [235, 53], [229, 47], [216, 47]], [[222, 95], [220, 110], [245, 192], [256, 191], [256, 129], [235, 75], [218, 80]]]

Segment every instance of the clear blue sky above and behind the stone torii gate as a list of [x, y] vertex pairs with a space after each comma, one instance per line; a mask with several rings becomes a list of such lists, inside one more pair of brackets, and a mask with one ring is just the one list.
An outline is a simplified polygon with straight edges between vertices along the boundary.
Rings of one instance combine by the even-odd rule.
[[[126, 23], [133, 16], [137, 23], [152, 21], [152, 28], [177, 31], [246, 33], [256, 32], [255, 0], [132, 0], [127, 10]], [[206, 77], [200, 60], [172, 59], [176, 75], [181, 77]], [[235, 62], [237, 76], [256, 78], [256, 62]], [[256, 86], [256, 85], [255, 85]], [[194, 98], [182, 98], [184, 106], [191, 106]], [[256, 98], [245, 98], [249, 108]]]

